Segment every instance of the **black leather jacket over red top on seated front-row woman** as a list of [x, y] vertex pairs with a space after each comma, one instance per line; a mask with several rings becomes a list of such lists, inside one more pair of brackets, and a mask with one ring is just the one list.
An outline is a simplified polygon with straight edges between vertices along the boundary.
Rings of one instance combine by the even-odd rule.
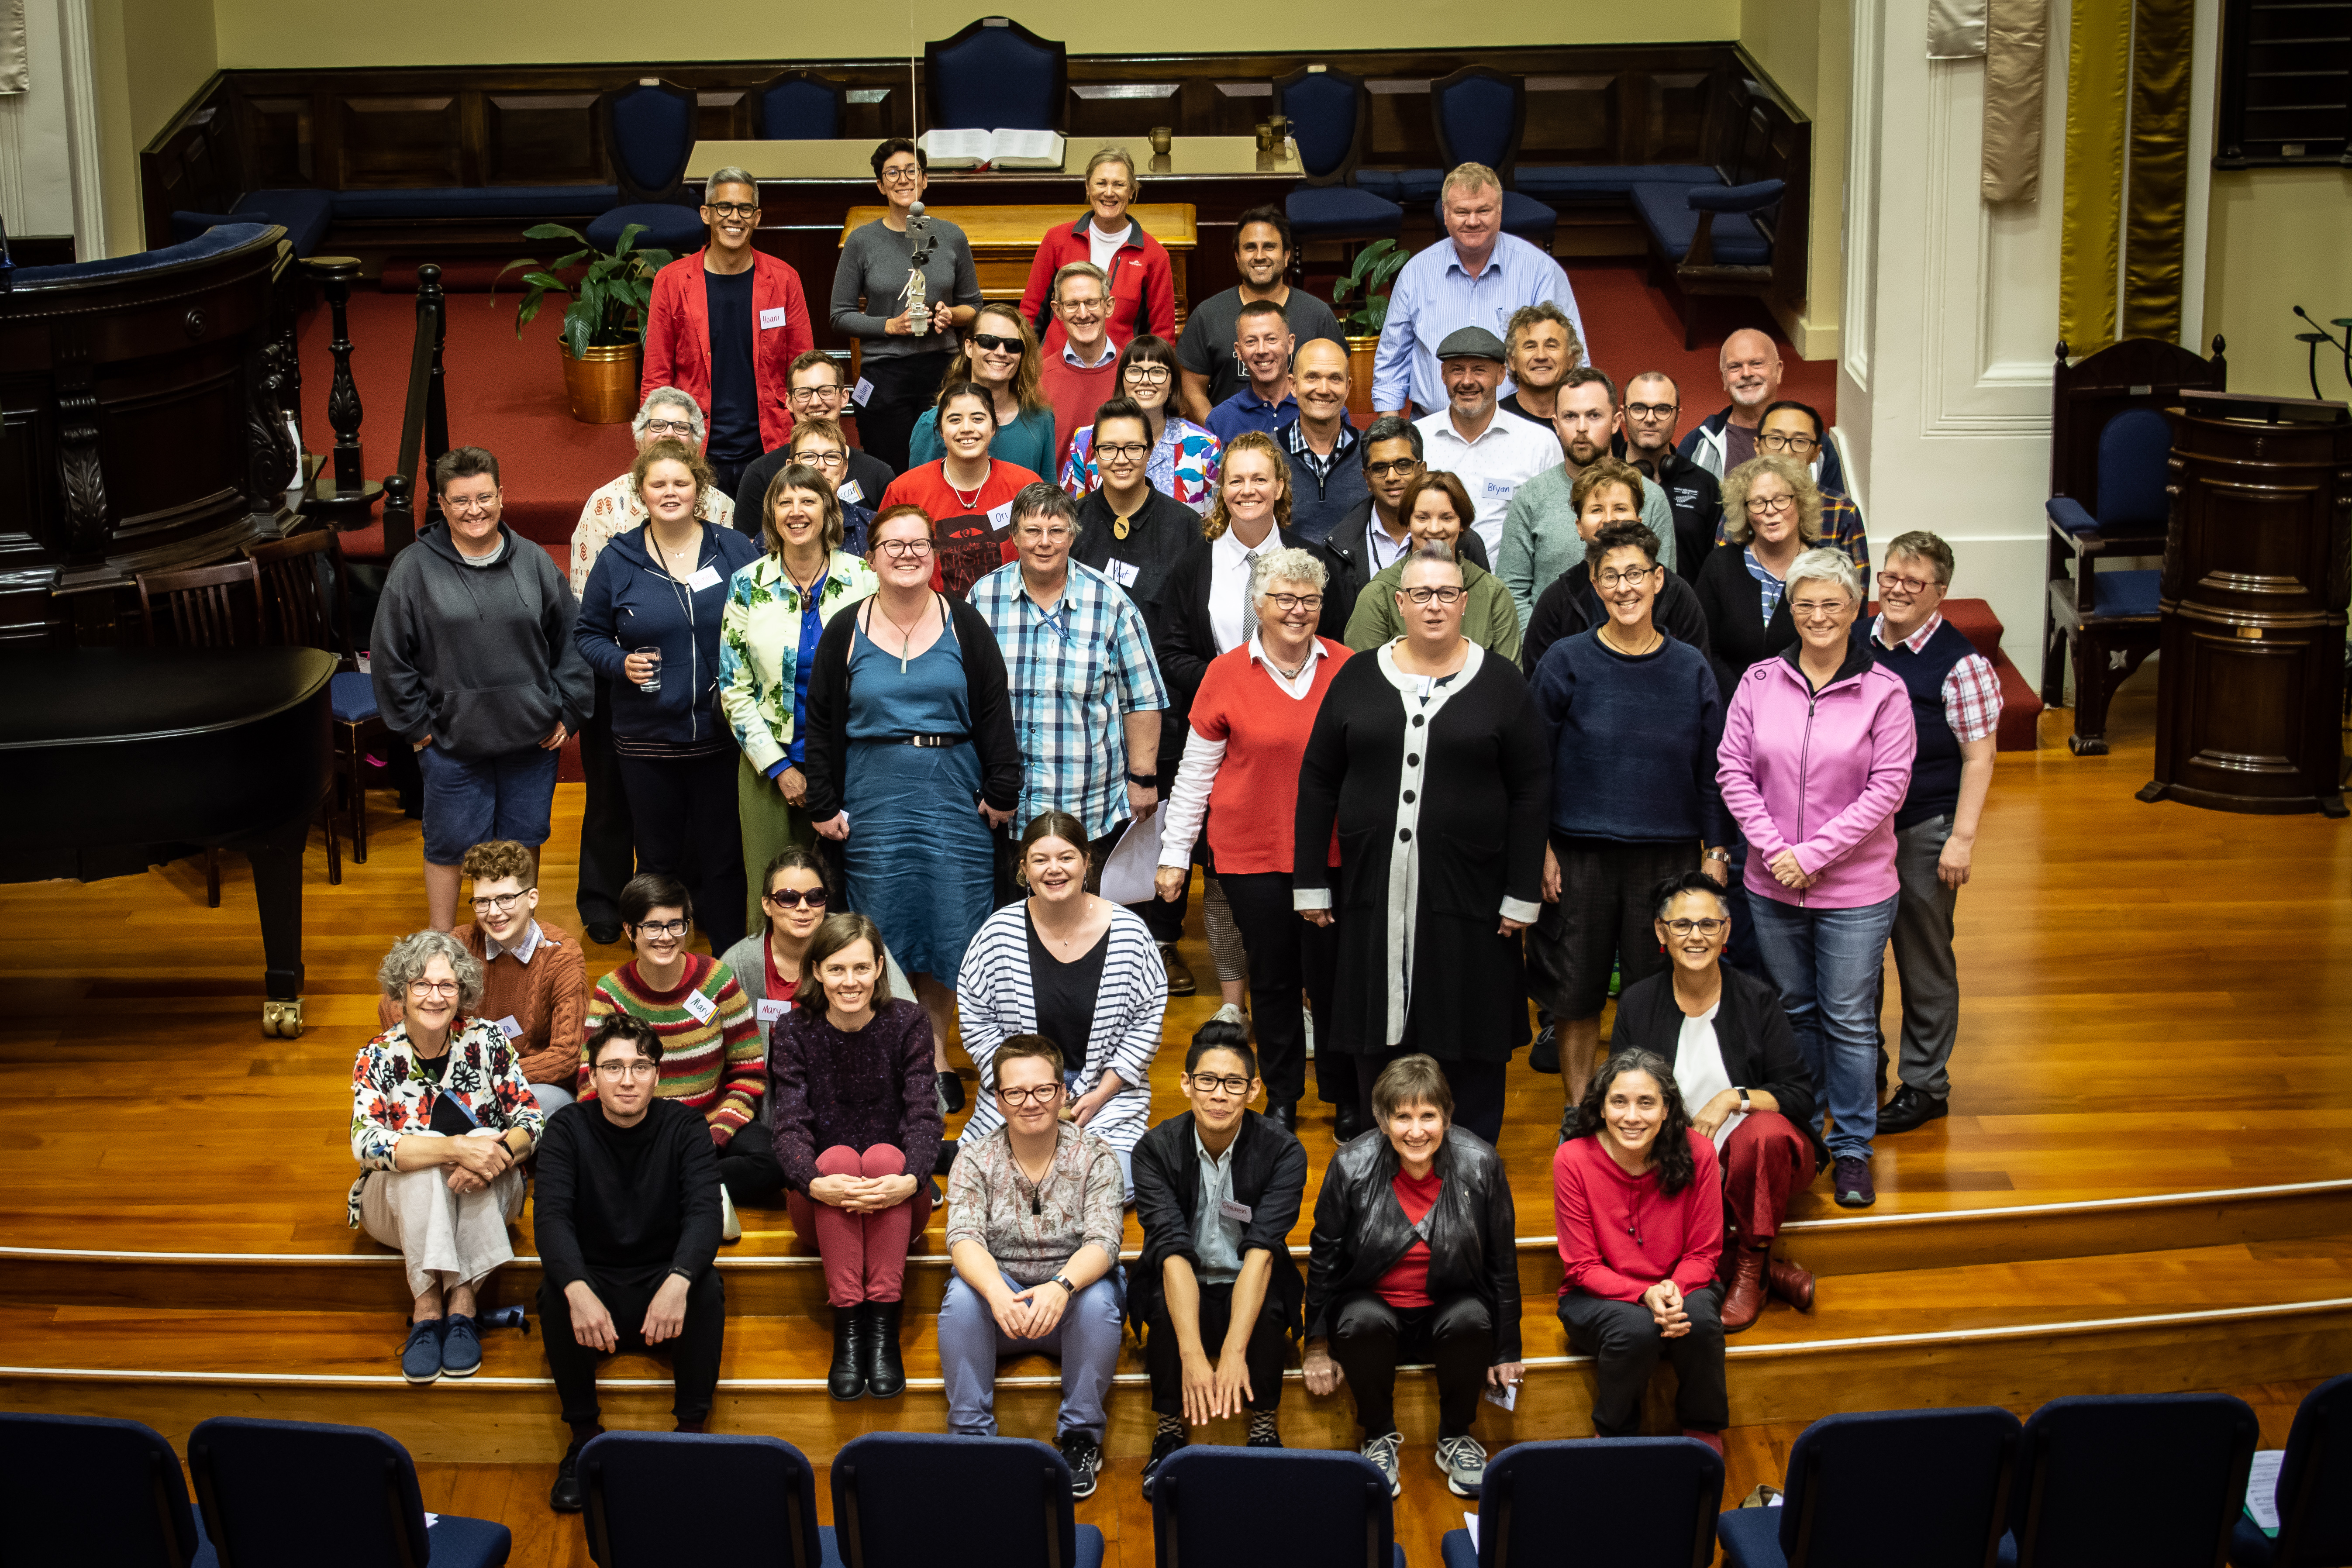
[[[1397, 1152], [1378, 1131], [1341, 1145], [1315, 1199], [1308, 1239], [1308, 1338], [1331, 1333], [1331, 1309], [1345, 1295], [1371, 1291], [1404, 1248], [1414, 1227], [1390, 1182]], [[1477, 1133], [1446, 1128], [1437, 1152], [1444, 1178], [1430, 1211], [1430, 1298], [1475, 1291], [1494, 1319], [1494, 1363], [1519, 1359], [1517, 1215], [1503, 1157]]]

